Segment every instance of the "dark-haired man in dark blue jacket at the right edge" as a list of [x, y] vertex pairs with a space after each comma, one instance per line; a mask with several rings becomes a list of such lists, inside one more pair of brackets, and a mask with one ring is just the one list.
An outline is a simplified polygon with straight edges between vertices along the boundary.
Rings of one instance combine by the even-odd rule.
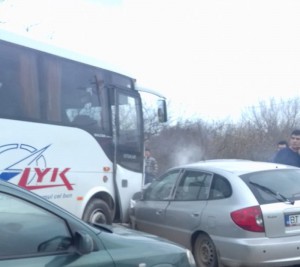
[[300, 167], [300, 130], [294, 130], [290, 136], [289, 146], [280, 149], [273, 162]]

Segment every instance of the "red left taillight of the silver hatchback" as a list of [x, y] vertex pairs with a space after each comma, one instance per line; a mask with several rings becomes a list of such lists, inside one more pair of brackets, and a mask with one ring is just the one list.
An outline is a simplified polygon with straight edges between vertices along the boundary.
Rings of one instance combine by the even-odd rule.
[[251, 232], [264, 232], [264, 221], [260, 206], [231, 212], [232, 220], [241, 228]]

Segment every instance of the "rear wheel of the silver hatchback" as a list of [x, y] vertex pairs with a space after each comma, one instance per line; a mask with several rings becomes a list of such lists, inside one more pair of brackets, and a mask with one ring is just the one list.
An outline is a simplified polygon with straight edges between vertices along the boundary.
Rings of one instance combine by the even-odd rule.
[[198, 267], [218, 267], [215, 245], [206, 234], [200, 234], [194, 245], [194, 257]]

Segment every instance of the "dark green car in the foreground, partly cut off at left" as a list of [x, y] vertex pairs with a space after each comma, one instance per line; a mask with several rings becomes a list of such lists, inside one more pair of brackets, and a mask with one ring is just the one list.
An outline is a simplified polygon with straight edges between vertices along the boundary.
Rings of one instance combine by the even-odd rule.
[[194, 267], [189, 250], [125, 227], [90, 226], [0, 181], [2, 267]]

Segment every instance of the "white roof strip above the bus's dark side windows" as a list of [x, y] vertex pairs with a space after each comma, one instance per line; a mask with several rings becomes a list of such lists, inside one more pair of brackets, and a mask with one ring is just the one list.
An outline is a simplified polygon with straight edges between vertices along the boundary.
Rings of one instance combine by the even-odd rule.
[[[109, 63], [97, 59], [97, 57], [89, 55], [87, 53], [80, 53], [75, 50], [69, 49], [67, 47], [58, 46], [57, 44], [51, 43], [47, 40], [39, 40], [32, 38], [30, 35], [15, 33], [0, 29], [0, 40], [13, 43], [16, 45], [21, 45], [24, 47], [32, 48], [41, 52], [49, 53], [62, 58], [74, 60], [84, 64], [92, 65], [98, 68], [109, 70], [127, 77], [132, 77], [132, 75], [126, 73]], [[135, 80], [135, 78], [133, 78]]]

